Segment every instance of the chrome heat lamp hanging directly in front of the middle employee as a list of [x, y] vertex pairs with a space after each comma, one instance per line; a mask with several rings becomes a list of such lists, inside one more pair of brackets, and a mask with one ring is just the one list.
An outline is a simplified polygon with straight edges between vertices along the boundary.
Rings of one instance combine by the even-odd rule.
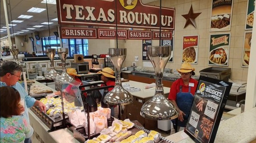
[[121, 83], [121, 67], [126, 58], [126, 49], [109, 48], [109, 56], [115, 66], [116, 84], [115, 87], [106, 94], [104, 103], [109, 105], [130, 104], [134, 100], [133, 96], [122, 87]]

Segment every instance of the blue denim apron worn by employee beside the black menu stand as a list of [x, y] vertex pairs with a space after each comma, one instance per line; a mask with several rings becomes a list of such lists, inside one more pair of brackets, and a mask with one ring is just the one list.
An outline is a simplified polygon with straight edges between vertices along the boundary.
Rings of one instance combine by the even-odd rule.
[[181, 88], [182, 86], [180, 86], [180, 92], [177, 93], [176, 103], [179, 109], [186, 115], [183, 116], [184, 120], [182, 122], [178, 120], [177, 125], [180, 127], [185, 127], [187, 125], [188, 117], [192, 108], [194, 96], [190, 92], [191, 87], [188, 87], [188, 92], [182, 92]]

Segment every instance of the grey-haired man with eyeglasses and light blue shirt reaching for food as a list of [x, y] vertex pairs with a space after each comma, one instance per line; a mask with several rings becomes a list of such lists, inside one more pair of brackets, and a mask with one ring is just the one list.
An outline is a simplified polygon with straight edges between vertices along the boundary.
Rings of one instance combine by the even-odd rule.
[[[42, 102], [35, 100], [28, 95], [26, 90], [18, 82], [22, 74], [22, 67], [13, 61], [5, 61], [0, 68], [0, 87], [10, 86], [17, 89], [20, 93], [20, 98], [24, 100], [24, 108], [21, 108], [22, 111], [25, 110], [23, 116], [27, 119], [29, 123], [29, 112], [28, 108], [32, 106], [37, 106], [41, 111], [45, 112], [46, 106]], [[11, 100], [11, 99], [10, 99]], [[31, 143], [31, 138], [26, 138], [25, 143]]]

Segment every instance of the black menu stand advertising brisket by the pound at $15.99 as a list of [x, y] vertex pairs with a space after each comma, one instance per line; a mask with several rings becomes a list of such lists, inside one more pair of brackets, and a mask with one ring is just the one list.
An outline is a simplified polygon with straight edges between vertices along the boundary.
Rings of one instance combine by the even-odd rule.
[[187, 126], [197, 143], [213, 143], [232, 83], [200, 76]]

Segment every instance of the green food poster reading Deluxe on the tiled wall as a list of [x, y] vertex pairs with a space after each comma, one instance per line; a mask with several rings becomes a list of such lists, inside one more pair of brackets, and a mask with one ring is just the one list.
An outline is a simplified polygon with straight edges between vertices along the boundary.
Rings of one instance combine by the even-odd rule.
[[228, 66], [230, 33], [210, 35], [208, 65]]

